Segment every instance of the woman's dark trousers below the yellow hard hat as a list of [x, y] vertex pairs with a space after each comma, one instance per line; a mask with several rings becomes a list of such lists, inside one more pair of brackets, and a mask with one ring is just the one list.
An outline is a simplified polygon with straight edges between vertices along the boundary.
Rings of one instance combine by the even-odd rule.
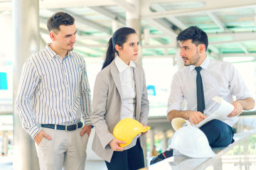
[[111, 161], [106, 162], [109, 170], [137, 170], [145, 167], [144, 154], [139, 144], [139, 139], [134, 147], [124, 150], [123, 152], [115, 152]]

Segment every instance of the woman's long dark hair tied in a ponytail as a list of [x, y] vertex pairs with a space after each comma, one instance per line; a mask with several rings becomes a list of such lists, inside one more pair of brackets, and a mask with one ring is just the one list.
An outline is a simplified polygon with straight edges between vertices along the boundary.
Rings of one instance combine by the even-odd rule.
[[114, 60], [115, 52], [117, 52], [117, 50], [115, 49], [115, 45], [119, 45], [120, 47], [122, 47], [123, 44], [127, 42], [128, 35], [133, 33], [136, 33], [136, 31], [133, 28], [129, 27], [122, 27], [114, 32], [114, 35], [112, 36], [112, 38], [110, 38], [108, 42], [106, 58], [102, 65], [102, 69], [107, 67]]

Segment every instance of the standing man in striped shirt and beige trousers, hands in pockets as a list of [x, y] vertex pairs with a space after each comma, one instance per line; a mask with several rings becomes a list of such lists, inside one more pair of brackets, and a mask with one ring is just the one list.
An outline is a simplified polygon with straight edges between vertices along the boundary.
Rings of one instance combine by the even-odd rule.
[[47, 26], [52, 42], [24, 64], [16, 108], [40, 169], [85, 169], [91, 99], [85, 61], [73, 52], [75, 19], [58, 12]]

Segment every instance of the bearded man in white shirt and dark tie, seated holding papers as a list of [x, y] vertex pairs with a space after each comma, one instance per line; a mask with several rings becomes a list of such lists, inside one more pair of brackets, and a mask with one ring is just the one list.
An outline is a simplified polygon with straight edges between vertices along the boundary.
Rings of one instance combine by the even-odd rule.
[[[242, 81], [242, 77], [229, 62], [210, 60], [206, 55], [208, 37], [196, 26], [181, 31], [176, 38], [181, 48], [184, 67], [179, 70], [171, 82], [171, 94], [168, 102], [168, 119], [184, 118], [193, 124], [200, 123], [218, 109], [218, 103], [212, 100], [220, 96], [235, 107], [228, 115], [228, 120], [211, 120], [200, 129], [206, 134], [210, 147], [226, 147], [232, 143], [232, 126], [238, 121], [242, 110], [254, 108], [255, 101]], [[198, 107], [196, 76], [197, 67], [201, 67], [203, 81], [203, 109]], [[235, 96], [235, 101], [233, 100]], [[186, 101], [184, 111], [181, 109], [183, 100]]]

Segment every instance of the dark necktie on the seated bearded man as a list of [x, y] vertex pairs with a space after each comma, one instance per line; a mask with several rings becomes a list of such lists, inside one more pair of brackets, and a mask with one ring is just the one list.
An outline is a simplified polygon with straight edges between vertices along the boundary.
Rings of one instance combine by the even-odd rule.
[[203, 81], [200, 74], [200, 71], [202, 67], [196, 67], [196, 96], [197, 96], [197, 106], [198, 111], [203, 113], [203, 110], [206, 108], [205, 102], [204, 102], [204, 96], [203, 96]]

